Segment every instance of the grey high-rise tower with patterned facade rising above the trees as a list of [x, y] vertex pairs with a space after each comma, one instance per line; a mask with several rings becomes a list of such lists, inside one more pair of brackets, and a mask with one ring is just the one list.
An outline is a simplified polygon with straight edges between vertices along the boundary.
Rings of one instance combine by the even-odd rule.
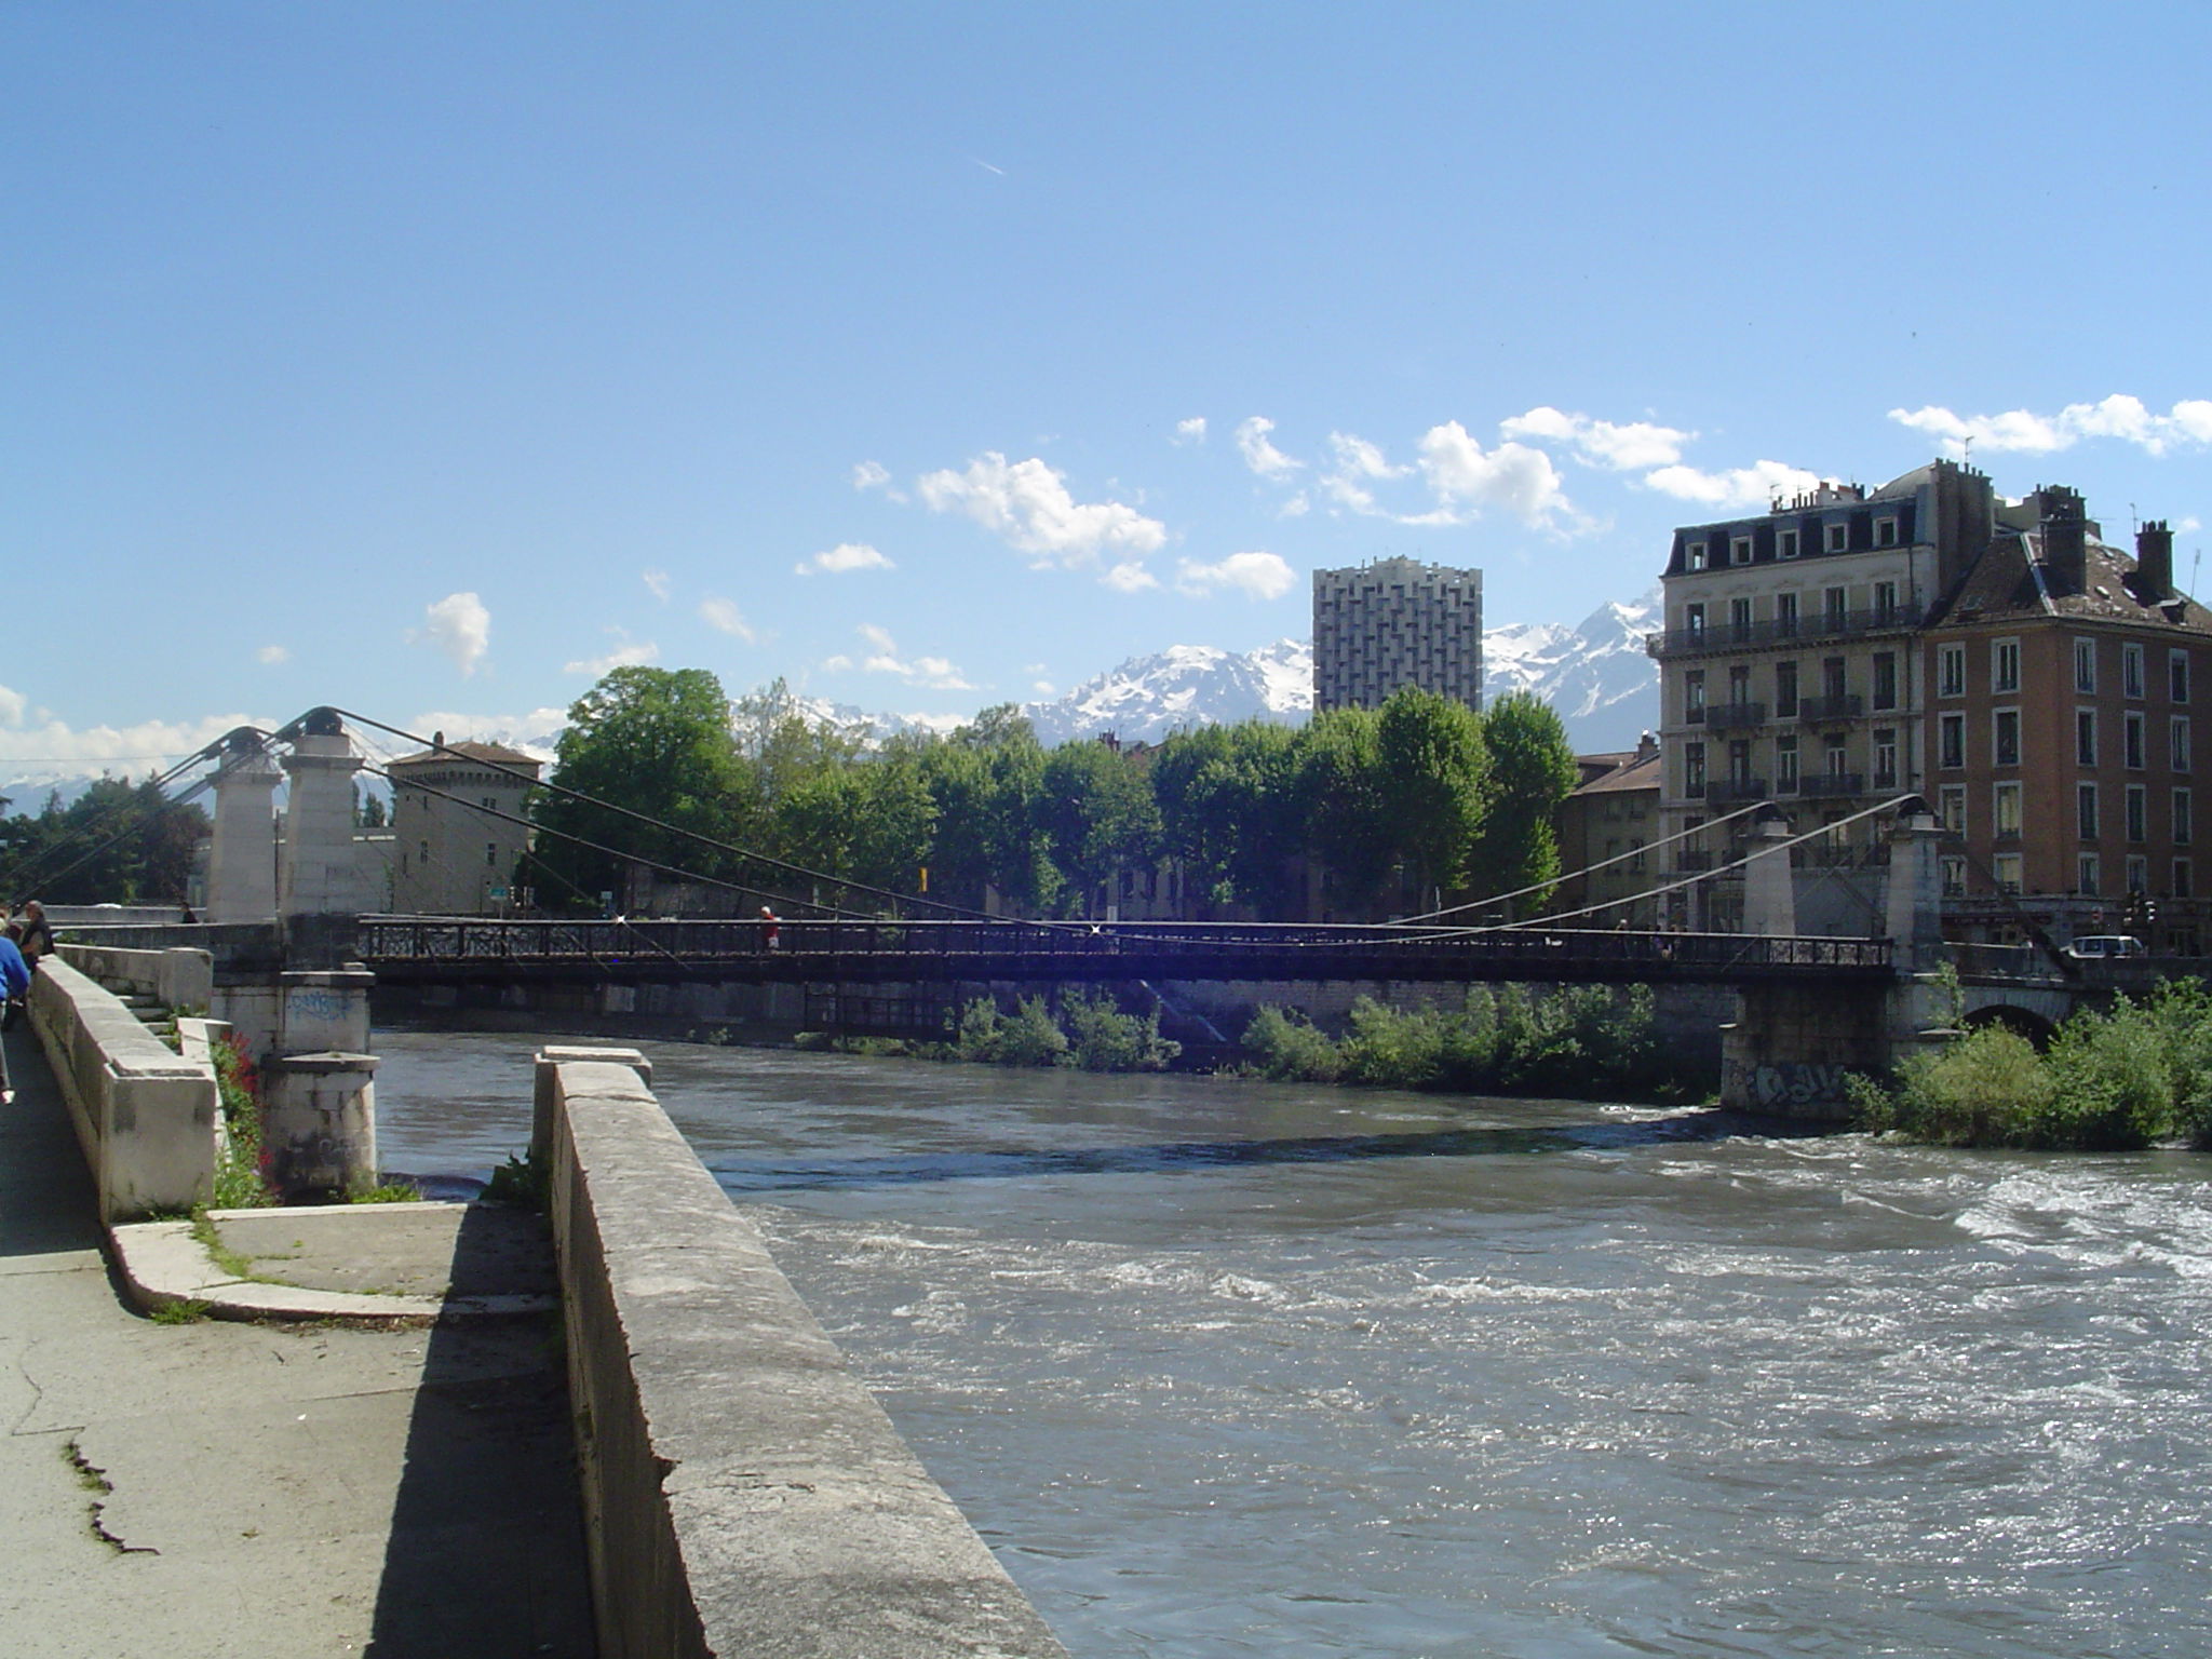
[[1374, 560], [1314, 571], [1314, 712], [1420, 686], [1482, 708], [1482, 571]]

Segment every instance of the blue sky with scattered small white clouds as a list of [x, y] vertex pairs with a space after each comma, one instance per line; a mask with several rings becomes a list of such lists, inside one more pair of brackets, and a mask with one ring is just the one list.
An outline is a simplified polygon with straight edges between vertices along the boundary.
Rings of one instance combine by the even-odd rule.
[[0, 4], [0, 763], [896, 712], [1646, 591], [1973, 436], [2212, 522], [2205, 7]]

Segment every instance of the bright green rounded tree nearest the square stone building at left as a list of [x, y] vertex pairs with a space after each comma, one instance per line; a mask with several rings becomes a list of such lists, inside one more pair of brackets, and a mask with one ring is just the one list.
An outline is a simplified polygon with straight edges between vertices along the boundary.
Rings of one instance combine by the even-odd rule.
[[745, 763], [730, 737], [730, 701], [703, 668], [615, 668], [568, 708], [553, 783], [608, 801], [672, 830], [602, 805], [540, 794], [542, 830], [531, 880], [549, 907], [588, 907], [597, 894], [624, 891], [622, 858], [577, 847], [582, 836], [672, 869], [737, 876], [734, 863], [688, 830], [745, 843], [761, 827]]

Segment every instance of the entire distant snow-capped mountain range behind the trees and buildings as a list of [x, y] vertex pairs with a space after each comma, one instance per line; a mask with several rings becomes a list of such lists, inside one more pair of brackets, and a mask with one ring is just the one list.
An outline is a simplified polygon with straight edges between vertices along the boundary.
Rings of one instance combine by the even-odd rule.
[[[1559, 710], [1577, 752], [1635, 748], [1637, 734], [1659, 726], [1659, 668], [1644, 655], [1644, 635], [1659, 626], [1659, 591], [1632, 604], [1608, 602], [1575, 626], [1517, 622], [1482, 635], [1482, 695], [1535, 692]], [[863, 726], [876, 737], [905, 730], [947, 730], [947, 719], [883, 714], [854, 703], [801, 697], [810, 719]], [[1157, 743], [1183, 726], [1265, 719], [1303, 726], [1314, 712], [1314, 648], [1307, 639], [1276, 639], [1259, 650], [1168, 646], [1130, 657], [1119, 668], [1086, 679], [1064, 697], [1024, 703], [1022, 712], [1046, 745], [1113, 732], [1128, 743]], [[551, 761], [551, 730], [484, 730], [471, 737], [511, 743]], [[22, 774], [0, 783], [18, 812], [38, 812], [49, 792], [77, 799], [95, 774]], [[367, 781], [380, 790], [380, 781]]]

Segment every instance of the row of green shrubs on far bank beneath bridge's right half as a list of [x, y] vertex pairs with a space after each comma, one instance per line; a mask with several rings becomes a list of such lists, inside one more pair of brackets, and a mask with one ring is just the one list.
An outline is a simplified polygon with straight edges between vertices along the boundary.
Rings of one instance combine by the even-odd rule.
[[1458, 1009], [1360, 998], [1343, 1037], [1294, 1009], [1263, 1006], [1243, 1033], [1263, 1077], [1436, 1088], [1469, 1095], [1679, 1095], [1648, 987], [1624, 993], [1478, 984]]

